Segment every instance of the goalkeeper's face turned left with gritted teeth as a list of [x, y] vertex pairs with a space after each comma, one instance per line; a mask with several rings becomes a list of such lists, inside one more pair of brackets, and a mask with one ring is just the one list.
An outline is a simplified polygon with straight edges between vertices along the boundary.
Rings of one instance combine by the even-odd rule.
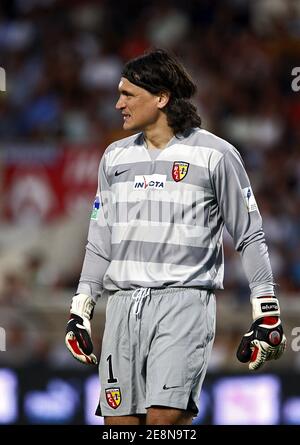
[[119, 92], [116, 108], [122, 111], [124, 130], [145, 130], [157, 122], [161, 108], [159, 96], [129, 82], [125, 77], [121, 78]]

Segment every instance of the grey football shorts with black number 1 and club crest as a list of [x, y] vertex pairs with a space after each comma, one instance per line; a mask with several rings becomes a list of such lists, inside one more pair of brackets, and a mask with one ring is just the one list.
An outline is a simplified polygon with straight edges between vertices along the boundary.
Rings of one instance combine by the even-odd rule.
[[119, 291], [109, 297], [97, 414], [145, 414], [154, 406], [198, 411], [215, 335], [213, 292]]

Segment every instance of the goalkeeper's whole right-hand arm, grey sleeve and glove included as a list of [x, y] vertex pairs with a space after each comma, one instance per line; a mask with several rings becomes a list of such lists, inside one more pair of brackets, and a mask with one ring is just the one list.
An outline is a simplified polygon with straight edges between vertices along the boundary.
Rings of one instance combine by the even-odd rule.
[[279, 358], [286, 339], [262, 219], [243, 162], [233, 148], [217, 164], [213, 185], [223, 221], [241, 254], [251, 289], [253, 323], [241, 341], [237, 357], [243, 362], [250, 361], [249, 369], [254, 370], [266, 360]]

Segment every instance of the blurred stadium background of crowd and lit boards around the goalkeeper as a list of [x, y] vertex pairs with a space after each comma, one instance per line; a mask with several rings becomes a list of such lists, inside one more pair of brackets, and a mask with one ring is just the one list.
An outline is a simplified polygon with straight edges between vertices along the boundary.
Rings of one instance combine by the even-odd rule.
[[[241, 152], [263, 215], [288, 349], [255, 375], [235, 358], [251, 320], [225, 234], [225, 291], [200, 423], [300, 424], [298, 0], [2, 0], [0, 423], [94, 423], [96, 369], [64, 346], [97, 167], [123, 137], [123, 63], [171, 49], [198, 85], [203, 127]], [[105, 301], [97, 307], [100, 353]], [[300, 338], [300, 337], [299, 337]]]

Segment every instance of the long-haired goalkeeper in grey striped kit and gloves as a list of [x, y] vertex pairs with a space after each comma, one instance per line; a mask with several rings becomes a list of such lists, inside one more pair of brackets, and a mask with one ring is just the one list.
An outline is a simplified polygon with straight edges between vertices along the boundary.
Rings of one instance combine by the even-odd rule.
[[169, 53], [130, 60], [117, 110], [134, 134], [99, 167], [66, 345], [96, 364], [90, 321], [109, 294], [97, 413], [106, 425], [191, 424], [223, 289], [223, 228], [241, 255], [253, 320], [237, 348], [251, 371], [284, 351], [262, 219], [238, 151], [201, 129], [196, 86]]

